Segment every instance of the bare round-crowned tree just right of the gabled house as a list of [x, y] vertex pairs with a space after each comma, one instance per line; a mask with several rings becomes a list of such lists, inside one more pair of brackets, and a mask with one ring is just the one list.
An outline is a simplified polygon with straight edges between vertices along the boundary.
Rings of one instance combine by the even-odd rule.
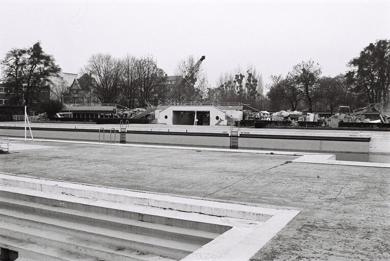
[[82, 73], [91, 75], [89, 85], [100, 102], [117, 103], [120, 95], [122, 66], [111, 55], [95, 54], [89, 58]]

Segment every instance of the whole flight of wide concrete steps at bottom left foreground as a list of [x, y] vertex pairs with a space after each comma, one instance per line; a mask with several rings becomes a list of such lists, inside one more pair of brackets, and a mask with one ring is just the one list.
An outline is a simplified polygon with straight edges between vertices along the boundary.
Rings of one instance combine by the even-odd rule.
[[230, 227], [165, 215], [163, 209], [95, 204], [71, 195], [0, 186], [0, 247], [16, 260], [181, 259]]

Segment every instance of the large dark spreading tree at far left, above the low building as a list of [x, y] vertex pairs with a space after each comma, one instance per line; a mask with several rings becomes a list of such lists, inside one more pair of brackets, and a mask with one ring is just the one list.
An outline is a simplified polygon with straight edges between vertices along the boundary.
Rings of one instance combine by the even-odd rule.
[[6, 86], [13, 88], [16, 102], [31, 105], [39, 101], [38, 93], [49, 90], [51, 77], [60, 72], [53, 56], [46, 54], [40, 42], [30, 48], [13, 48], [1, 61]]

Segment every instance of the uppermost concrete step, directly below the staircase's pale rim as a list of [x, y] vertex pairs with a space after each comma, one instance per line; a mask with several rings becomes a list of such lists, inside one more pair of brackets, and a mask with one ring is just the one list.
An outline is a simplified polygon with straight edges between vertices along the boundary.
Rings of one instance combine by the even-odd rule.
[[[31, 195], [27, 193], [21, 194], [21, 193], [15, 193], [12, 191], [5, 191], [5, 190], [0, 190], [0, 197], [38, 203], [47, 206], [59, 206], [61, 208], [66, 208], [69, 210], [79, 210], [88, 213], [108, 215], [110, 217], [114, 216], [119, 218], [126, 218], [131, 220], [138, 220], [142, 222], [162, 224], [167, 226], [190, 228], [194, 230], [203, 230], [203, 231], [208, 231], [213, 233], [224, 233], [225, 231], [230, 229], [229, 226], [225, 226], [225, 225], [212, 224], [210, 222], [202, 222], [198, 220], [174, 218], [172, 217], [172, 215], [167, 216], [167, 213], [163, 209], [159, 209], [155, 207], [126, 204], [127, 206], [130, 205], [132, 206], [131, 207], [132, 211], [126, 211], [117, 208], [99, 206], [94, 204], [95, 201], [93, 200], [90, 201], [91, 204], [80, 203], [76, 201], [77, 200], [76, 197], [68, 197], [66, 200], [60, 200], [60, 199], [56, 199], [56, 195], [52, 195], [51, 196], [52, 198], [47, 198], [47, 197], [41, 197], [41, 196]], [[0, 202], [0, 204], [2, 203]], [[22, 210], [23, 207], [22, 206], [20, 207], [19, 209]], [[38, 208], [42, 208], [42, 207], [39, 206]], [[55, 213], [53, 213], [53, 209], [49, 209], [48, 211], [50, 212], [51, 215], [55, 215]], [[45, 216], [47, 214], [42, 213], [37, 215]], [[60, 214], [60, 215], [63, 216], [64, 214]]]

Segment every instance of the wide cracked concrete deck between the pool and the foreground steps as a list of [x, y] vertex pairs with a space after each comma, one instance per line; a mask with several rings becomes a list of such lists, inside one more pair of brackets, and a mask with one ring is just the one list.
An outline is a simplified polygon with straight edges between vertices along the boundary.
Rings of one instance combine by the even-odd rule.
[[[55, 146], [2, 154], [0, 170], [189, 197], [213, 193], [207, 198], [299, 208], [300, 214], [252, 256], [256, 261], [390, 260], [386, 168], [283, 164], [298, 156], [255, 153]], [[43, 165], [59, 168], [42, 171]]]

